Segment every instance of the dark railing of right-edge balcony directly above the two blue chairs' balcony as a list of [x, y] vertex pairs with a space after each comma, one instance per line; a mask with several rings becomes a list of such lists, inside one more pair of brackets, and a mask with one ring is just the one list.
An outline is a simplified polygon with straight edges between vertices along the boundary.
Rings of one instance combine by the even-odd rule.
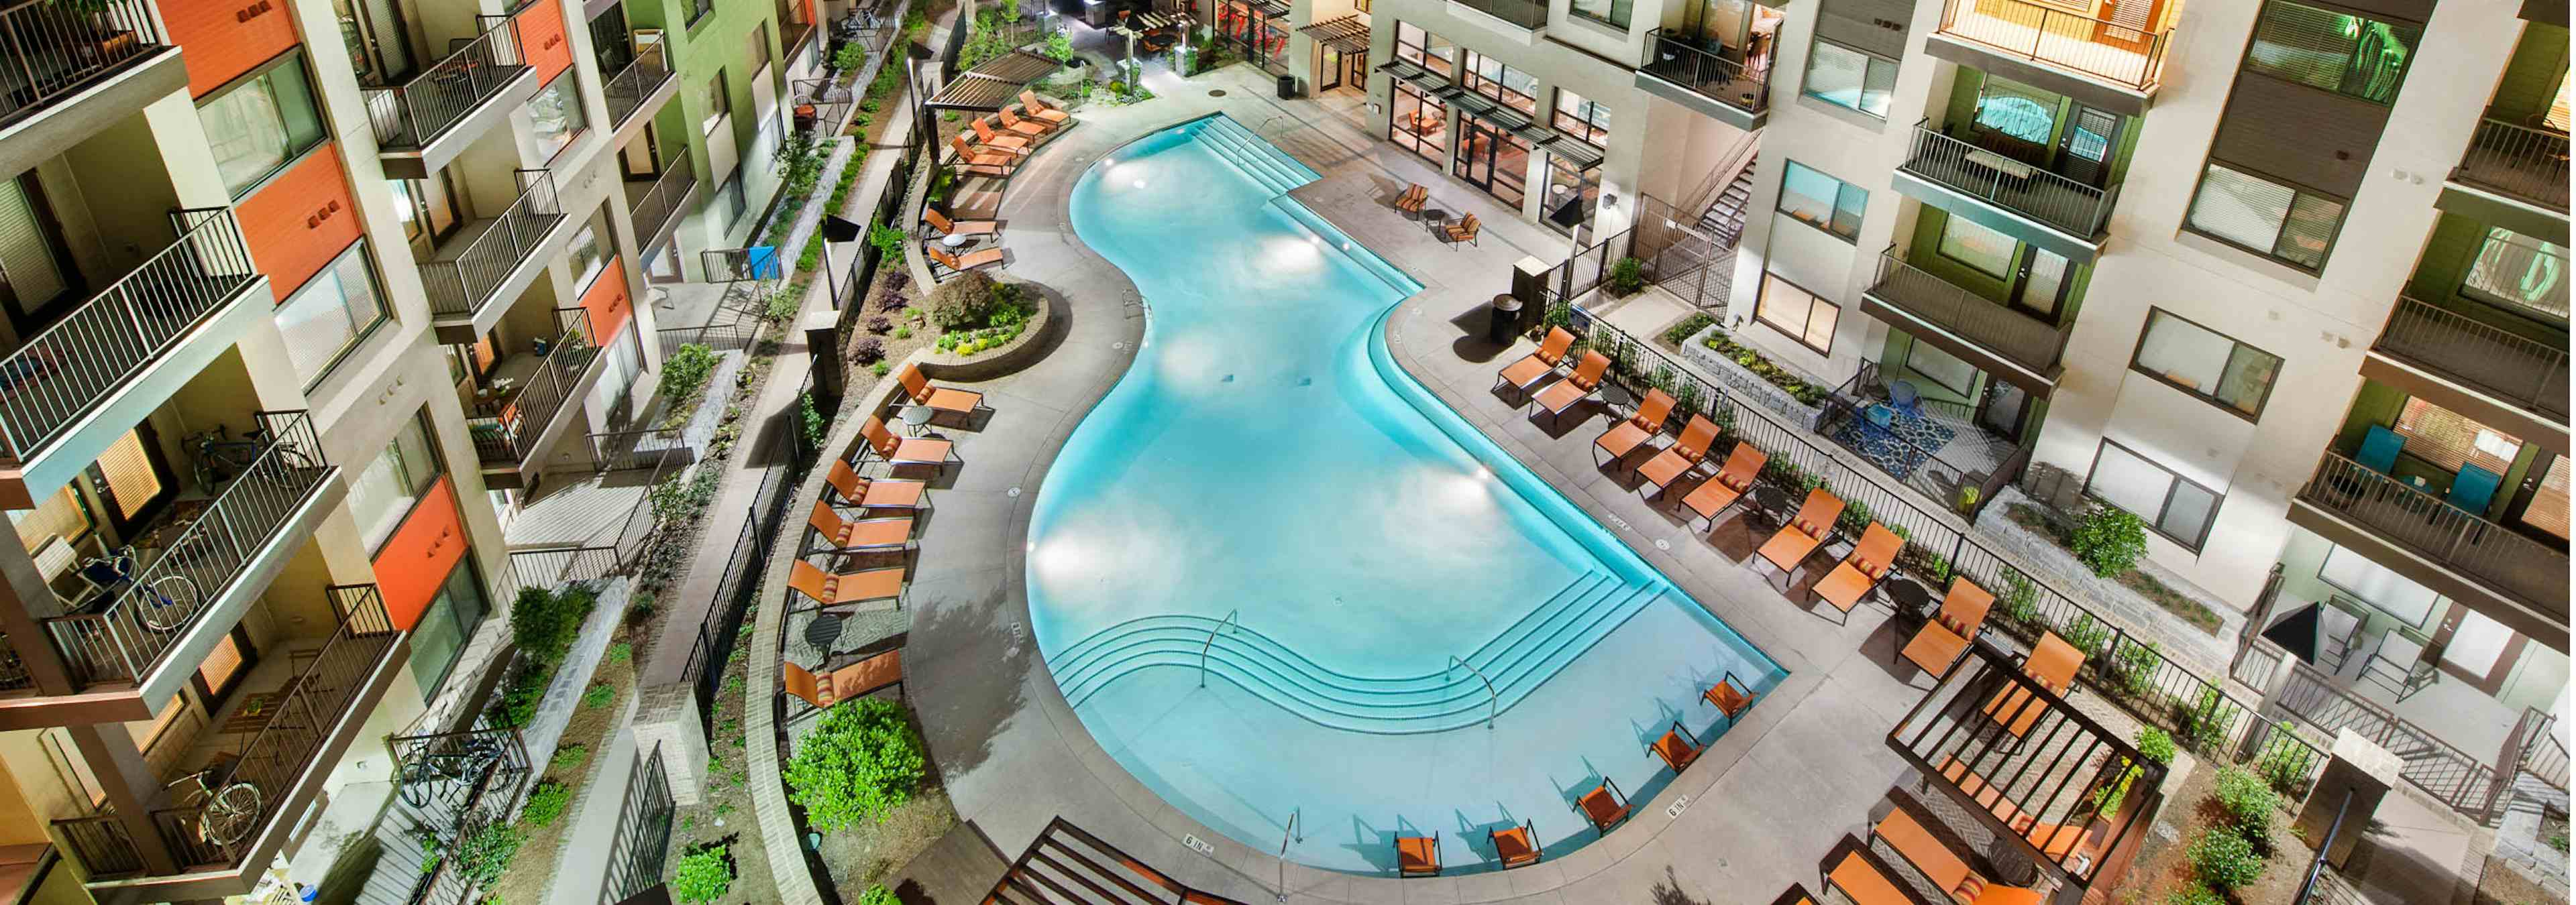
[[2468, 383], [2522, 409], [2568, 419], [2568, 352], [2398, 296], [2372, 350]]

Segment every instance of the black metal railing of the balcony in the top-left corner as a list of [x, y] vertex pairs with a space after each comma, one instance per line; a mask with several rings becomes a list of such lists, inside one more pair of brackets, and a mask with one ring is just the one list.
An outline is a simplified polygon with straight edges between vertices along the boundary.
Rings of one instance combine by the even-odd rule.
[[0, 123], [18, 121], [144, 59], [162, 41], [149, 0], [23, 0], [0, 10]]

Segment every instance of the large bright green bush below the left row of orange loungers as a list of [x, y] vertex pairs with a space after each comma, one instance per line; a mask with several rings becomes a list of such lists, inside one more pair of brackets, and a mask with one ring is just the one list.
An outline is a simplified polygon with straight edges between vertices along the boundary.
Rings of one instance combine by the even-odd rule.
[[817, 833], [884, 820], [912, 800], [927, 758], [902, 704], [878, 697], [840, 702], [796, 746], [788, 761], [788, 800], [806, 810]]

